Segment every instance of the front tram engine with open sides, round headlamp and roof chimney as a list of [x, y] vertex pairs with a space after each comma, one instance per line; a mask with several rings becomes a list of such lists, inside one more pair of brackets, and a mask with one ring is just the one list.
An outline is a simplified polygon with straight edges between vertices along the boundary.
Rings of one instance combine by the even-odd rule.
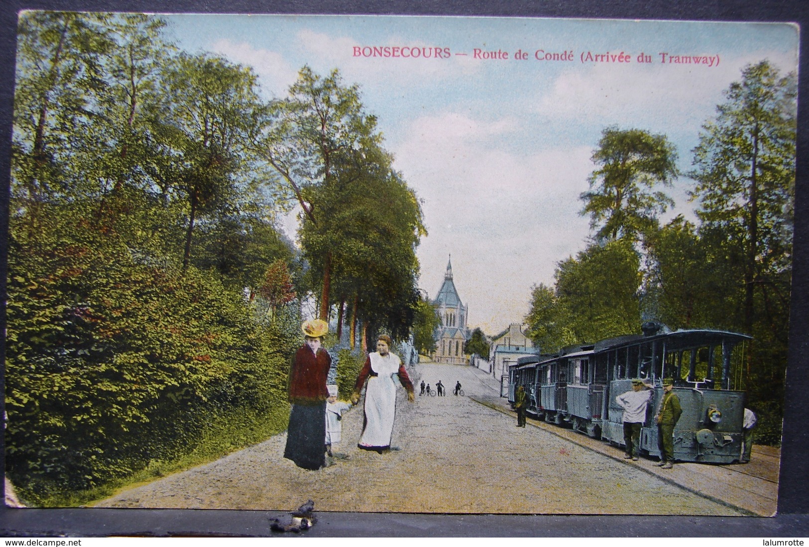
[[622, 445], [623, 410], [615, 397], [631, 380], [654, 384], [654, 396], [641, 430], [641, 450], [660, 456], [654, 412], [663, 398], [663, 378], [674, 379], [683, 414], [674, 430], [674, 457], [680, 461], [730, 464], [739, 460], [743, 438], [744, 392], [740, 391], [743, 342], [750, 337], [717, 330], [659, 333], [644, 324], [644, 335], [601, 341], [595, 358], [608, 370], [609, 389], [602, 438]]

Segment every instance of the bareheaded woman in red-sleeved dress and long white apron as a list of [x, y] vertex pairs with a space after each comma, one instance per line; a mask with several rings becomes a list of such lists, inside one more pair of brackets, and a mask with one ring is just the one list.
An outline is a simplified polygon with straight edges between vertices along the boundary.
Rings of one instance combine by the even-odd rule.
[[401, 359], [390, 352], [391, 339], [381, 335], [376, 341], [376, 351], [368, 355], [362, 367], [351, 400], [356, 404], [362, 385], [368, 382], [365, 390], [365, 423], [362, 438], [357, 444], [363, 450], [373, 450], [380, 454], [391, 447], [393, 419], [396, 418], [396, 381], [407, 390], [408, 401], [416, 400], [413, 383], [404, 370]]

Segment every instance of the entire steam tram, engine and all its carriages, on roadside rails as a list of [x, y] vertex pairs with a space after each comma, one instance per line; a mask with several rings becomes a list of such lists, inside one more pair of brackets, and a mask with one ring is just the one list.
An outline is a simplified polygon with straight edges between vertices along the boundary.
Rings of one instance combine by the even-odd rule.
[[509, 369], [509, 401], [514, 404], [522, 385], [527, 412], [536, 418], [623, 445], [623, 409], [615, 398], [640, 378], [654, 385], [641, 451], [659, 456], [654, 411], [663, 397], [662, 380], [671, 377], [683, 408], [674, 430], [676, 460], [733, 463], [743, 437], [744, 392], [738, 388], [749, 339], [708, 329], [661, 332], [659, 324], [646, 323], [643, 335], [519, 358]]

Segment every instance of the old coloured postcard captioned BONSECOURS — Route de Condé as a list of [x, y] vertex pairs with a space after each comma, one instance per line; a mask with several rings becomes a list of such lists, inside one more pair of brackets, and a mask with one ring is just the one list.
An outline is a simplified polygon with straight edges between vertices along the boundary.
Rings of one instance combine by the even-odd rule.
[[793, 23], [19, 14], [6, 506], [771, 516]]

